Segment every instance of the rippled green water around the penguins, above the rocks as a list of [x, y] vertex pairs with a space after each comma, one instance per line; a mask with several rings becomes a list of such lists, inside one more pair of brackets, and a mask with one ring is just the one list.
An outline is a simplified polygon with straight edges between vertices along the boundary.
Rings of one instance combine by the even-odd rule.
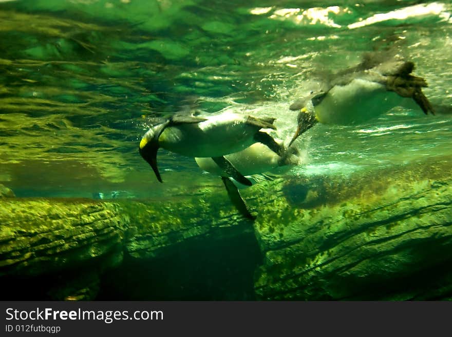
[[[450, 154], [452, 4], [360, 1], [0, 1], [0, 183], [17, 196], [149, 196], [221, 184], [160, 150], [149, 117], [190, 108], [275, 116], [326, 72], [391, 50], [416, 64], [435, 116], [400, 107], [363, 125], [316, 125], [291, 174], [348, 174]], [[177, 194], [177, 193], [176, 193]]]

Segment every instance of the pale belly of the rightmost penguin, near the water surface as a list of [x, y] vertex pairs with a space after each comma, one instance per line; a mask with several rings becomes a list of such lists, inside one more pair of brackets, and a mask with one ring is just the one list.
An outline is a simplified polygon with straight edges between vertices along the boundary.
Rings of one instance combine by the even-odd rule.
[[380, 83], [356, 79], [346, 86], [335, 86], [315, 106], [315, 115], [325, 124], [355, 124], [379, 116], [407, 98], [387, 91]]

